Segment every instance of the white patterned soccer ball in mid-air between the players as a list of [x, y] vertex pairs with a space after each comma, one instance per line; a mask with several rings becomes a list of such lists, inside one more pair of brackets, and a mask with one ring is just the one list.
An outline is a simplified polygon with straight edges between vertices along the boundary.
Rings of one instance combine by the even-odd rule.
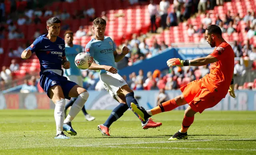
[[75, 64], [79, 69], [88, 69], [92, 65], [92, 58], [86, 52], [78, 53], [75, 58]]

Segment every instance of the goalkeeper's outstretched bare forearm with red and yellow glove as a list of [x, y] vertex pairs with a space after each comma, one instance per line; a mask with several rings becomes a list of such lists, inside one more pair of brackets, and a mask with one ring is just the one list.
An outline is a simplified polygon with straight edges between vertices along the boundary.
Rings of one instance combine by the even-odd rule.
[[207, 57], [203, 58], [196, 58], [193, 60], [181, 60], [179, 58], [172, 58], [167, 61], [167, 65], [169, 67], [172, 66], [204, 66], [209, 63], [215, 63], [218, 59], [213, 57], [212, 55], [208, 55]]

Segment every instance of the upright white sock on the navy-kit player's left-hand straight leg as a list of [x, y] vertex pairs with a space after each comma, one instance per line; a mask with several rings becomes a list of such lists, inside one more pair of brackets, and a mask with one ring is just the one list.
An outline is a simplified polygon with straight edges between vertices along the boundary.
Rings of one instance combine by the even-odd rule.
[[65, 99], [61, 99], [55, 104], [54, 118], [56, 122], [56, 130], [57, 130], [56, 135], [60, 134], [63, 131], [65, 104], [66, 104]]

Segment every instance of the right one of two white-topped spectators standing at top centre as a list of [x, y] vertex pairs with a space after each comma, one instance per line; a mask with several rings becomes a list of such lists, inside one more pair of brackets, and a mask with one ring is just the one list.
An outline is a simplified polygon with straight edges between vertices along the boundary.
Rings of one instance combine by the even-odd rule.
[[168, 16], [168, 8], [170, 7], [170, 2], [168, 0], [162, 0], [159, 4], [159, 12], [161, 16], [161, 26], [163, 29], [166, 28], [166, 19]]

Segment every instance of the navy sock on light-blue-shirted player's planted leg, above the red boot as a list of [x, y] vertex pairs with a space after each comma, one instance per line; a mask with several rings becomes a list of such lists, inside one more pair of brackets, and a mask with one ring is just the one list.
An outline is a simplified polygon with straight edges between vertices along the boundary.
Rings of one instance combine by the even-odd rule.
[[114, 108], [114, 110], [111, 112], [110, 116], [108, 116], [108, 119], [103, 125], [109, 128], [111, 124], [118, 120], [118, 118], [120, 118], [128, 109], [129, 107], [127, 106], [127, 104], [120, 103], [116, 108]]

